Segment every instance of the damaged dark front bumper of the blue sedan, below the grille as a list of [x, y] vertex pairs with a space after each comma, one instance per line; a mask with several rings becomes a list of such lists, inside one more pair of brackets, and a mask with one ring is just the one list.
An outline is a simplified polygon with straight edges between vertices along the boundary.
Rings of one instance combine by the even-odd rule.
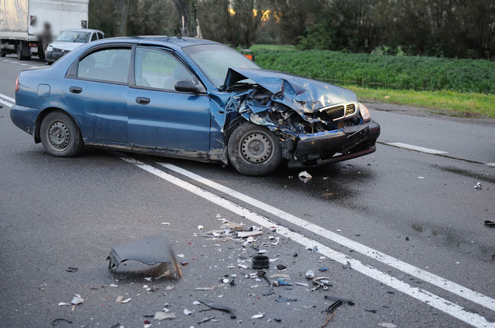
[[299, 136], [289, 167], [310, 167], [336, 163], [370, 154], [376, 150], [380, 125], [369, 121], [341, 130]]

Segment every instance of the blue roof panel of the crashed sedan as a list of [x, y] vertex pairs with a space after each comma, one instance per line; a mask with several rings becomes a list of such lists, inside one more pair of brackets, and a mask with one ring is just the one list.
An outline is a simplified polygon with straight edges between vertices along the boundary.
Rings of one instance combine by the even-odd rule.
[[188, 47], [190, 45], [220, 45], [211, 40], [203, 38], [184, 38], [181, 36], [120, 36], [117, 38], [106, 38], [103, 43], [144, 43], [153, 45], [168, 45], [172, 47]]

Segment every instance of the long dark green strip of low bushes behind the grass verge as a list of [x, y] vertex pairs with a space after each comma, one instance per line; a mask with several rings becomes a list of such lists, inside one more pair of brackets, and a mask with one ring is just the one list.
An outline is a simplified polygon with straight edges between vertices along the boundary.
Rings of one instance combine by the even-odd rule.
[[495, 62], [420, 56], [347, 54], [329, 50], [256, 51], [265, 69], [368, 86], [495, 93]]

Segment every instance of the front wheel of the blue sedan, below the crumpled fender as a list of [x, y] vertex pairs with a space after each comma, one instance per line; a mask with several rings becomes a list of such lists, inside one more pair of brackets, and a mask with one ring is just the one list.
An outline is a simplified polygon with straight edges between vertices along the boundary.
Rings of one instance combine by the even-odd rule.
[[281, 141], [265, 126], [245, 122], [230, 135], [227, 152], [232, 166], [248, 176], [263, 176], [282, 161]]

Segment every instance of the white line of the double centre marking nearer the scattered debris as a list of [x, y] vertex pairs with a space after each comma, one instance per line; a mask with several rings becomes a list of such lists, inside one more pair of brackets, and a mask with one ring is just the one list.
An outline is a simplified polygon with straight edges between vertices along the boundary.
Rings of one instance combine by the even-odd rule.
[[385, 272], [377, 270], [371, 266], [366, 266], [357, 259], [353, 259], [352, 257], [345, 255], [344, 253], [340, 253], [336, 250], [333, 250], [328, 246], [325, 246], [324, 244], [315, 242], [314, 240], [311, 240], [303, 235], [300, 235], [299, 233], [290, 231], [285, 226], [281, 226], [276, 222], [268, 220], [267, 218], [265, 218], [262, 215], [259, 215], [258, 213], [254, 213], [253, 211], [250, 211], [249, 209], [245, 209], [244, 207], [241, 207], [240, 205], [235, 204], [234, 202], [230, 202], [230, 200], [221, 198], [220, 196], [212, 194], [209, 191], [201, 189], [195, 185], [192, 185], [191, 183], [188, 183], [166, 172], [163, 172], [151, 165], [142, 163], [141, 161], [137, 161], [127, 156], [120, 156], [120, 159], [128, 163], [131, 163], [132, 165], [135, 165], [140, 169], [144, 169], [146, 172], [154, 174], [155, 176], [158, 176], [159, 178], [162, 178], [170, 183], [173, 183], [178, 187], [186, 189], [187, 191], [190, 191], [192, 194], [196, 194], [197, 196], [209, 200], [210, 202], [213, 202], [214, 204], [217, 204], [223, 207], [224, 209], [227, 209], [228, 211], [232, 211], [237, 215], [241, 215], [256, 224], [259, 224], [260, 226], [264, 226], [265, 228], [270, 228], [271, 226], [274, 226], [277, 229], [276, 232], [278, 234], [288, 237], [292, 239], [294, 242], [297, 242], [305, 247], [318, 246], [318, 253], [325, 255], [326, 257], [329, 257], [330, 259], [333, 259], [334, 261], [338, 261], [339, 263], [342, 264], [345, 264], [349, 261], [349, 263], [351, 263], [351, 267], [354, 270], [361, 272], [362, 274], [365, 274], [366, 276], [371, 277], [377, 281], [380, 281], [381, 283], [384, 283], [390, 286], [391, 288], [395, 288], [396, 290], [404, 292], [405, 294], [408, 294], [409, 296], [412, 296], [413, 298], [416, 298], [417, 300], [426, 303], [431, 307], [439, 309], [440, 311], [445, 312], [446, 314], [449, 314], [454, 318], [458, 318], [459, 320], [462, 320], [463, 322], [469, 325], [472, 325], [474, 327], [495, 327], [495, 323], [489, 323], [483, 316], [480, 316], [472, 312], [467, 312], [463, 309], [463, 307], [456, 305], [450, 301], [447, 301], [445, 298], [441, 298], [440, 296], [432, 294], [421, 288], [412, 287], [408, 283], [404, 283], [404, 281], [400, 281], [395, 277], [391, 277]]

